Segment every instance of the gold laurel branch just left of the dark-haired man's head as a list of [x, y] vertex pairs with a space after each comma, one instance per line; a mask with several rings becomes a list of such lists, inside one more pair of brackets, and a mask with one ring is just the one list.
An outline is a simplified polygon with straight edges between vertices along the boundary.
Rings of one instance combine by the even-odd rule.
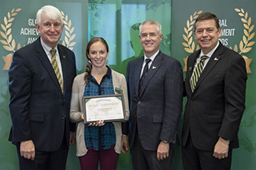
[[[202, 10], [200, 11], [195, 11], [193, 16], [190, 15], [190, 19], [186, 21], [186, 27], [184, 27], [184, 31], [186, 34], [182, 34], [183, 39], [186, 42], [182, 42], [182, 45], [185, 46], [185, 51], [187, 53], [194, 53], [194, 49], [195, 49], [195, 43], [194, 43], [194, 39], [193, 39], [193, 26], [194, 26], [194, 22], [195, 20], [198, 18], [199, 14], [202, 13]], [[196, 50], [199, 49], [199, 46], [197, 46]]]

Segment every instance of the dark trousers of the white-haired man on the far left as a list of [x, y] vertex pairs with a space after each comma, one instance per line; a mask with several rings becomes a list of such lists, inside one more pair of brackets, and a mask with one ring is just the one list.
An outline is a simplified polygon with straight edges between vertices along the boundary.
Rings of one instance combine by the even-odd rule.
[[35, 151], [34, 160], [28, 160], [21, 156], [20, 145], [17, 146], [19, 169], [66, 169], [66, 158], [69, 147], [66, 140], [62, 142], [60, 148], [55, 152]]

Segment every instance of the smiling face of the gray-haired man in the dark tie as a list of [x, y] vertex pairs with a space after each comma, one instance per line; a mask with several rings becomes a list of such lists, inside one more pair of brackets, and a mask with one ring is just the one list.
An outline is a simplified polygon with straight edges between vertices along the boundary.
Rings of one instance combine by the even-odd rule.
[[160, 48], [162, 34], [159, 34], [156, 25], [145, 24], [142, 26], [139, 40], [142, 44], [146, 57], [151, 57]]

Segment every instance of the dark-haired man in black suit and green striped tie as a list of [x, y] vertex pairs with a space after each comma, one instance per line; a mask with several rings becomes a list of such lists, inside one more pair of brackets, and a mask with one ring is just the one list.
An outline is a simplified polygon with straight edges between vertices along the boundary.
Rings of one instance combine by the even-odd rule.
[[238, 53], [218, 42], [221, 34], [214, 14], [201, 14], [196, 19], [194, 36], [201, 49], [187, 60], [182, 129], [185, 169], [230, 169], [232, 149], [238, 148], [246, 64]]

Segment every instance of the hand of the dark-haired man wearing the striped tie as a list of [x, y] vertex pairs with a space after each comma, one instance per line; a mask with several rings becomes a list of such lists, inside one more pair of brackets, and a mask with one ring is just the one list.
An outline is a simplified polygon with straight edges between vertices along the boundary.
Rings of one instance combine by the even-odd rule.
[[229, 152], [230, 140], [224, 140], [222, 137], [218, 138], [218, 142], [214, 147], [214, 157], [220, 159], [226, 158]]

